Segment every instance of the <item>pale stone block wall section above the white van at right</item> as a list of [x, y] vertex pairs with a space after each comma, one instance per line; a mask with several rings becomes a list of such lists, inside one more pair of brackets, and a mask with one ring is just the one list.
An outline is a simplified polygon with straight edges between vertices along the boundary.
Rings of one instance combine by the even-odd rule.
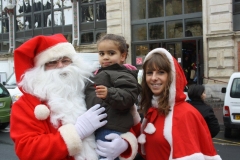
[[[207, 95], [224, 99], [221, 88], [238, 70], [232, 0], [203, 0], [204, 80]], [[215, 80], [215, 81], [214, 81]]]

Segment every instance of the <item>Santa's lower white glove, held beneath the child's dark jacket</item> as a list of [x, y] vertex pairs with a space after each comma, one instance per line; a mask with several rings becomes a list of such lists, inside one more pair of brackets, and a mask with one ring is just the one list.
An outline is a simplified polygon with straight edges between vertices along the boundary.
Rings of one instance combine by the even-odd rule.
[[96, 152], [98, 155], [105, 157], [100, 160], [114, 160], [128, 148], [128, 143], [116, 133], [106, 135], [105, 139], [111, 140], [111, 142], [97, 140]]

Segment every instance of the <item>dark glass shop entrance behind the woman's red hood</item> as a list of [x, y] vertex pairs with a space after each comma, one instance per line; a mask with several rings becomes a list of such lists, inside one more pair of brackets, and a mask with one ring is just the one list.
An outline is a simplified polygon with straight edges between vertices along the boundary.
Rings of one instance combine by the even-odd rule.
[[167, 49], [182, 66], [188, 84], [203, 83], [203, 41], [202, 39], [181, 40], [175, 42], [159, 42], [133, 45], [133, 64], [138, 69], [142, 68], [147, 53], [154, 48], [163, 47]]

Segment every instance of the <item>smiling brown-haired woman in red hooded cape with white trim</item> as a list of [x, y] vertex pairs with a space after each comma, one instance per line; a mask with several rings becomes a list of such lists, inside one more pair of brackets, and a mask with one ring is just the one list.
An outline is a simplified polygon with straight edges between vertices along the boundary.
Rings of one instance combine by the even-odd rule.
[[[134, 133], [140, 135], [139, 152], [145, 159], [221, 160], [202, 115], [185, 102], [183, 89], [186, 84], [181, 66], [167, 50], [157, 48], [147, 54], [141, 94], [145, 117], [141, 127], [133, 127]], [[113, 139], [98, 143], [98, 153], [107, 153], [105, 157], [114, 155], [117, 148], [111, 150], [111, 143], [119, 146], [126, 141]], [[129, 152], [130, 148], [123, 154], [127, 157]]]

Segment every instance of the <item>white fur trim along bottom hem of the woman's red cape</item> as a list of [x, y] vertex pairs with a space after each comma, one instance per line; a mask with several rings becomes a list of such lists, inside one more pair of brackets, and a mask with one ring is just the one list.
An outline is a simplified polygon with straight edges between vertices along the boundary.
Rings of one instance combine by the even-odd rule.
[[203, 155], [202, 153], [195, 153], [189, 156], [181, 157], [181, 158], [176, 158], [172, 160], [222, 160], [222, 158], [219, 155], [215, 156], [207, 156]]

